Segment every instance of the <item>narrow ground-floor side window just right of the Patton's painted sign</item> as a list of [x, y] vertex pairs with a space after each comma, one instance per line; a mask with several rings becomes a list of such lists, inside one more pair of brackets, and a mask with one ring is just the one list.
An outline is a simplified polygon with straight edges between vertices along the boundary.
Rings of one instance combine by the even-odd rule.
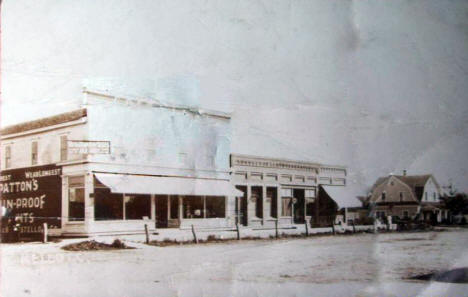
[[68, 220], [84, 220], [84, 176], [68, 178]]

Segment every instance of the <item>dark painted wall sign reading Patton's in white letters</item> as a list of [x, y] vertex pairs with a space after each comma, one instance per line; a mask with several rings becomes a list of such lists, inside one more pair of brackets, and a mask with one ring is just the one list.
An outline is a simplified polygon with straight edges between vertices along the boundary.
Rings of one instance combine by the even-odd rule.
[[2, 233], [42, 233], [61, 227], [62, 168], [55, 165], [4, 170], [0, 176]]

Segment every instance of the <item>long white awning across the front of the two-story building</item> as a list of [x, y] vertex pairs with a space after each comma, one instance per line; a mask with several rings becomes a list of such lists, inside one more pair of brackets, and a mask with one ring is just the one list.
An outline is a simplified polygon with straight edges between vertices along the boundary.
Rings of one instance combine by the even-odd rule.
[[96, 178], [113, 193], [199, 195], [199, 196], [243, 196], [229, 181], [96, 173]]

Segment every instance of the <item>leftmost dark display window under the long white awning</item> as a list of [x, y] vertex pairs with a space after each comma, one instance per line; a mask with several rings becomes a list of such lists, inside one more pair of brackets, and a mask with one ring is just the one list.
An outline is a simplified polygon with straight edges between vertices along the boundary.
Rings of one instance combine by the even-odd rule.
[[108, 188], [95, 188], [94, 197], [94, 219], [96, 221], [123, 219], [122, 194], [111, 193]]

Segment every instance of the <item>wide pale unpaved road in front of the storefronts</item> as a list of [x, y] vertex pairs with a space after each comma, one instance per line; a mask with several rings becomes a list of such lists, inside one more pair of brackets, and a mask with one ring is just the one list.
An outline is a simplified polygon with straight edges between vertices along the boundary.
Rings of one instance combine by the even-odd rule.
[[1, 296], [468, 296], [468, 285], [404, 280], [468, 266], [463, 230], [98, 252], [63, 244], [2, 245]]

